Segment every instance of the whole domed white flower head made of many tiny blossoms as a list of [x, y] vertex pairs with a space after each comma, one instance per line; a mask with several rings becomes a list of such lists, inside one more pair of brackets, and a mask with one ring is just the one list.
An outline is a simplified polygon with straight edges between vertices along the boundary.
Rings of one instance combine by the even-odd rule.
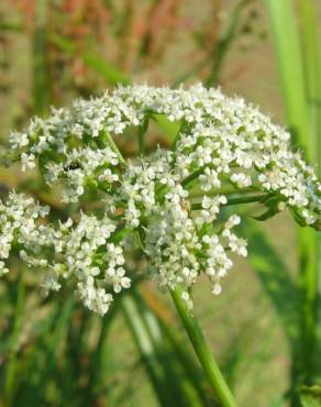
[[[112, 135], [133, 128], [142, 131], [159, 114], [179, 122], [173, 148], [158, 148], [132, 162], [122, 160]], [[251, 201], [259, 193], [267, 211], [288, 207], [301, 224], [320, 228], [320, 182], [300, 154], [291, 152], [289, 138], [243, 99], [226, 98], [201, 85], [119, 87], [111, 95], [53, 110], [48, 119], [36, 118], [25, 132], [11, 134], [8, 158], [20, 161], [22, 169], [37, 163], [49, 185], [63, 185], [63, 201], [75, 202], [87, 188], [96, 188], [106, 216], [82, 213], [74, 224], [55, 228], [33, 221], [43, 263], [37, 264], [40, 256], [27, 239], [20, 242], [26, 246], [22, 256], [33, 265], [48, 262], [51, 273], [43, 283], [47, 289], [59, 288], [60, 275], [74, 278], [86, 306], [104, 314], [112, 293], [131, 284], [123, 251], [126, 237], [133, 234], [159, 286], [180, 285], [191, 307], [191, 288], [200, 274], [219, 294], [220, 282], [233, 264], [229, 252], [246, 255], [246, 242], [233, 232], [240, 217], [226, 219], [222, 210], [231, 200], [237, 201], [235, 197]], [[231, 200], [226, 190], [233, 193]], [[20, 198], [14, 195], [14, 199]], [[1, 228], [1, 258], [7, 258], [19, 228], [9, 222]], [[117, 228], [123, 232], [120, 243], [114, 239]], [[55, 252], [51, 261], [48, 242]]]

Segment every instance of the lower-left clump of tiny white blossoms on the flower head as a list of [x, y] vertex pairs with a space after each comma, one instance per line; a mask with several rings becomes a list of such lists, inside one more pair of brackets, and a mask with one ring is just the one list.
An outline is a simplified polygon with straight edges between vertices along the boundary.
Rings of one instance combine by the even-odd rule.
[[108, 217], [85, 213], [76, 224], [71, 219], [57, 226], [40, 222], [47, 213], [47, 207], [15, 193], [0, 202], [0, 275], [8, 273], [3, 260], [15, 250], [27, 266], [46, 270], [45, 293], [58, 290], [59, 279], [68, 279], [89, 309], [104, 315], [112, 293], [131, 286], [123, 249], [110, 242], [117, 226]]

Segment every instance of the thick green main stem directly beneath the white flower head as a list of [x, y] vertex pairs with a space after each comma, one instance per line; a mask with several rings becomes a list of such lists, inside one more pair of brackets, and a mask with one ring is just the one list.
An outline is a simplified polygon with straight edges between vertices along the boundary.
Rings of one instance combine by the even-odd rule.
[[236, 407], [234, 397], [206, 342], [197, 319], [186, 309], [181, 290], [179, 288], [171, 289], [170, 295], [207, 378], [215, 391], [215, 395], [223, 407]]

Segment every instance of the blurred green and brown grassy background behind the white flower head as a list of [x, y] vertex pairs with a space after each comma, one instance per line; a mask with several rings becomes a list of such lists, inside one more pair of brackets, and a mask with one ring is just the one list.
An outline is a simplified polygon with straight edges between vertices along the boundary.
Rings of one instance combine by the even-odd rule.
[[[2, 0], [1, 144], [51, 105], [118, 84], [201, 81], [261, 106], [317, 164], [320, 19], [317, 0]], [[166, 145], [167, 132], [154, 135]], [[131, 142], [123, 147], [130, 155]], [[1, 196], [40, 188], [18, 169], [2, 169], [0, 184]], [[318, 241], [287, 215], [258, 223], [248, 219], [251, 255], [223, 294], [198, 286], [196, 314], [240, 406], [309, 406], [299, 393], [320, 378]], [[153, 285], [100, 318], [70, 292], [44, 299], [40, 273], [12, 258], [0, 280], [0, 406], [218, 406]]]

